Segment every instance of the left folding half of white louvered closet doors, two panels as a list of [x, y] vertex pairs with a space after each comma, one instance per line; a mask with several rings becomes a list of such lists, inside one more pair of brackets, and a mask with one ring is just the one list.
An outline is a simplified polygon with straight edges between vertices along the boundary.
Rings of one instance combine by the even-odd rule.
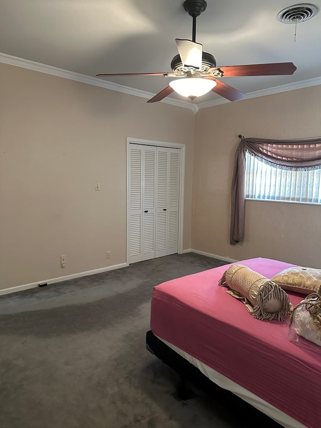
[[129, 148], [129, 263], [155, 257], [156, 148]]

